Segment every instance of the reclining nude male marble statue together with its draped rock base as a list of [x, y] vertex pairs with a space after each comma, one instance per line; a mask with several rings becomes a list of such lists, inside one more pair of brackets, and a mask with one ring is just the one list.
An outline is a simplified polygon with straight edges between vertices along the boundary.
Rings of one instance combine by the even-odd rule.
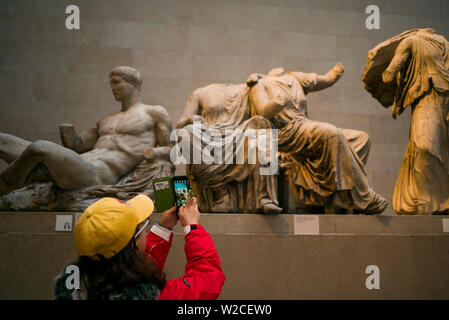
[[[0, 207], [81, 210], [99, 197], [151, 196], [154, 178], [173, 175], [167, 111], [143, 103], [137, 70], [118, 66], [109, 79], [121, 110], [104, 116], [80, 135], [73, 125], [61, 124], [64, 146], [0, 133], [0, 157], [9, 164], [0, 174]], [[47, 199], [50, 203], [38, 199], [41, 188], [33, 189], [32, 184], [39, 182], [55, 187]], [[24, 208], [27, 205], [31, 208]]]

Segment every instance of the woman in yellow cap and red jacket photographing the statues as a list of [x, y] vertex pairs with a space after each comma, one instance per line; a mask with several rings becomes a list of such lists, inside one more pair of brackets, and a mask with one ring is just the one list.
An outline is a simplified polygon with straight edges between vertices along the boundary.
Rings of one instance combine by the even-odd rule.
[[[154, 205], [138, 195], [128, 202], [103, 198], [89, 206], [75, 226], [80, 286], [68, 289], [70, 274], [56, 279], [54, 299], [195, 300], [217, 299], [225, 275], [212, 238], [198, 224], [196, 198], [162, 213], [147, 235]], [[173, 228], [184, 228], [187, 264], [182, 278], [167, 281], [163, 268]], [[64, 269], [65, 270], [65, 269]], [[69, 286], [70, 287], [70, 286]]]

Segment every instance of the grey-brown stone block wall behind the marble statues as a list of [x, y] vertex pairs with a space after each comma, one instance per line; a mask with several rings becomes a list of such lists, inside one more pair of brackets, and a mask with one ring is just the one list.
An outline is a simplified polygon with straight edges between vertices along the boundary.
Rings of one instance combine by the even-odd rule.
[[[69, 4], [80, 7], [80, 30], [65, 28]], [[369, 4], [380, 30], [365, 28]], [[449, 0], [1, 0], [0, 131], [59, 142], [61, 122], [88, 128], [119, 108], [108, 88], [116, 65], [140, 70], [145, 101], [175, 124], [197, 87], [277, 66], [325, 73], [340, 61], [345, 75], [309, 96], [310, 116], [370, 134], [368, 175], [391, 199], [410, 112], [394, 121], [363, 89], [366, 54], [413, 27], [449, 38], [448, 18]]]

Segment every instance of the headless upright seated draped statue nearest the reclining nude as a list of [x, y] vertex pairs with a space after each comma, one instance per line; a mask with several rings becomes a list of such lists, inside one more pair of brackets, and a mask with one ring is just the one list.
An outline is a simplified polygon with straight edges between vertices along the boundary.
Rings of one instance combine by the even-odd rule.
[[[192, 187], [199, 198], [203, 212], [263, 212], [280, 213], [277, 201], [277, 181], [274, 175], [260, 175], [259, 162], [250, 164], [248, 154], [244, 161], [236, 163], [236, 150], [244, 140], [236, 142], [239, 132], [248, 129], [271, 129], [270, 122], [261, 116], [252, 117], [246, 84], [211, 84], [196, 89], [188, 98], [184, 112], [177, 124], [185, 129], [191, 149], [204, 149], [204, 144], [193, 144], [193, 123], [201, 122], [199, 134], [217, 130], [224, 138], [223, 145], [234, 145], [233, 164], [190, 163], [187, 171]], [[231, 135], [226, 135], [231, 130]], [[201, 141], [201, 137], [197, 137]], [[201, 150], [195, 150], [200, 152]], [[193, 152], [195, 152], [193, 151]]]

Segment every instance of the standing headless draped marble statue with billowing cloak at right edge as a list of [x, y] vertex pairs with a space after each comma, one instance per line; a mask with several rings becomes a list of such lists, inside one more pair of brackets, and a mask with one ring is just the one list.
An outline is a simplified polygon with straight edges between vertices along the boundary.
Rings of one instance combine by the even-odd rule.
[[366, 90], [396, 119], [411, 108], [409, 143], [393, 193], [398, 214], [449, 211], [449, 42], [407, 30], [368, 53]]

